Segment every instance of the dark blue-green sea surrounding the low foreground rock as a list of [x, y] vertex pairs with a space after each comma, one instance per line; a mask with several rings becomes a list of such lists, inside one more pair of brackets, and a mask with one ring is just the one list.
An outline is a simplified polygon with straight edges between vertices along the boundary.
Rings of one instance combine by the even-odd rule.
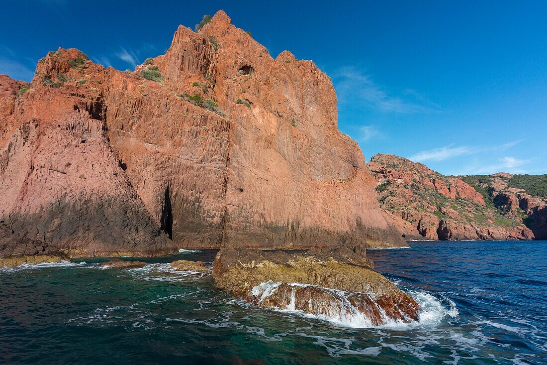
[[425, 308], [420, 323], [383, 328], [251, 307], [165, 264], [212, 265], [213, 251], [143, 269], [0, 270], [0, 363], [547, 363], [547, 242], [410, 245], [369, 251]]

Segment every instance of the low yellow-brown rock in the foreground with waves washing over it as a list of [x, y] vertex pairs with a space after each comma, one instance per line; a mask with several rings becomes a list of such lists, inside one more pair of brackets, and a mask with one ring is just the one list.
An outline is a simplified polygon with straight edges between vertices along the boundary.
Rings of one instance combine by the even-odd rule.
[[414, 298], [379, 273], [352, 264], [356, 258], [330, 253], [225, 248], [214, 261], [213, 277], [218, 288], [248, 303], [357, 327], [417, 320]]

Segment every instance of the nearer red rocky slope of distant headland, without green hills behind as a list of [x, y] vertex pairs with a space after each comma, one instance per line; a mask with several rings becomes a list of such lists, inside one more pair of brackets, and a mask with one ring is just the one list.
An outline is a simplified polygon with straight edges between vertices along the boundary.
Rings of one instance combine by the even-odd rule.
[[462, 178], [394, 155], [375, 155], [368, 167], [376, 177], [381, 207], [406, 239], [534, 238], [516, 213], [504, 213], [515, 212], [509, 206], [517, 204], [516, 198], [499, 195], [499, 206], [506, 207], [500, 211]]

